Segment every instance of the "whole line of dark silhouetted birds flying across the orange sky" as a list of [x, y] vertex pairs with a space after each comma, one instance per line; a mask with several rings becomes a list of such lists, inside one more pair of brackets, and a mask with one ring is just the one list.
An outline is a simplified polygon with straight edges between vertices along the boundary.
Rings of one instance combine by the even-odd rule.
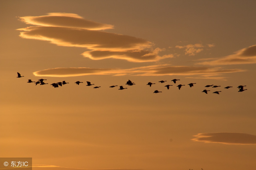
[[[17, 72], [17, 74], [18, 74], [18, 76], [17, 76], [18, 78], [24, 77], [24, 76], [21, 76], [20, 73], [18, 73], [18, 72]], [[44, 80], [46, 80], [46, 79], [39, 79], [37, 82], [34, 82], [34, 81], [32, 81], [31, 79], [29, 79], [27, 83], [35, 83], [36, 85], [37, 85], [37, 84], [40, 84], [40, 85], [48, 84], [48, 83], [45, 83]], [[178, 80], [179, 80], [179, 79], [173, 79], [173, 80], [171, 80], [171, 81], [173, 81], [173, 83], [176, 84], [176, 81], [178, 81]], [[163, 80], [159, 81], [159, 83], [164, 83], [164, 82], [166, 82], [166, 81], [163, 81]], [[76, 83], [77, 85], [79, 85], [80, 83], [83, 83], [83, 82], [77, 81], [77, 82], [75, 82], [75, 83]], [[50, 84], [50, 85], [52, 85], [52, 87], [56, 88], [56, 87], [59, 87], [59, 86], [65, 85], [65, 84], [68, 84], [68, 83], [66, 83], [66, 81], [62, 81], [62, 82], [58, 82], [58, 83], [52, 83], [52, 84]], [[135, 83], [133, 83], [131, 80], [128, 80], [128, 81], [126, 82], [126, 84], [127, 84], [128, 86], [135, 85]], [[148, 82], [146, 85], [149, 85], [149, 86], [151, 87], [152, 84], [156, 84], [156, 83]], [[194, 84], [196, 84], [196, 83], [189, 83], [188, 85], [189, 85], [189, 87], [193, 87]], [[88, 81], [87, 81], [87, 85], [86, 85], [86, 86], [91, 86], [91, 85], [94, 85], [94, 84], [91, 84], [91, 82], [88, 82]], [[110, 87], [113, 88], [113, 87], [115, 87], [115, 86], [118, 86], [118, 85], [113, 85], [113, 86], [110, 86]], [[167, 89], [169, 90], [169, 87], [170, 87], [170, 86], [173, 86], [173, 85], [169, 85], [169, 84], [168, 84], [168, 85], [166, 85], [166, 86], [164, 86], [164, 87], [167, 87]], [[179, 90], [180, 90], [180, 88], [181, 88], [182, 86], [185, 86], [185, 85], [179, 84], [177, 87], [178, 87]], [[101, 86], [95, 86], [95, 87], [93, 87], [93, 88], [100, 88], [100, 87], [101, 87]], [[220, 86], [216, 86], [216, 85], [206, 85], [205, 87], [213, 87], [213, 88], [216, 88], [216, 87], [220, 87]], [[224, 88], [228, 89], [228, 88], [231, 88], [231, 87], [232, 87], [232, 86], [227, 86], [227, 87], [224, 87]], [[238, 86], [238, 87], [237, 87], [237, 88], [239, 89], [238, 92], [242, 92], [242, 91], [244, 91], [244, 90], [247, 90], [247, 89], [244, 89], [243, 87], [245, 87], [245, 86], [243, 86], [243, 85]], [[126, 89], [126, 88], [124, 88], [123, 86], [119, 86], [119, 90], [123, 90], [123, 89]], [[210, 91], [210, 90], [206, 90], [206, 89], [205, 89], [205, 90], [203, 90], [202, 92], [204, 92], [204, 93], [207, 94], [207, 91]], [[153, 93], [160, 93], [160, 92], [162, 92], [162, 91], [155, 90]], [[221, 91], [215, 91], [215, 92], [213, 92], [213, 93], [219, 94], [219, 92], [221, 92]]]

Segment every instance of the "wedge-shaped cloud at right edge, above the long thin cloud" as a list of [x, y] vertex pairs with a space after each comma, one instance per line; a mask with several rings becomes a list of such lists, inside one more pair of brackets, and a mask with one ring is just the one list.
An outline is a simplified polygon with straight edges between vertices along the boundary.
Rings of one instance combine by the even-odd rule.
[[212, 61], [199, 62], [201, 65], [231, 65], [231, 64], [254, 64], [256, 63], [256, 45], [243, 48], [235, 54], [213, 59]]

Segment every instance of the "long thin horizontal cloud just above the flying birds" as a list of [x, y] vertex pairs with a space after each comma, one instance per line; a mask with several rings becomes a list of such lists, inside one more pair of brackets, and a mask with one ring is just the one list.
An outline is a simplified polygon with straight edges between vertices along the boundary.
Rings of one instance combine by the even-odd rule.
[[135, 67], [130, 69], [93, 69], [93, 68], [53, 68], [36, 71], [35, 76], [69, 77], [82, 75], [137, 75], [137, 76], [157, 76], [157, 75], [204, 75], [214, 76], [221, 73], [233, 73], [245, 71], [242, 69], [221, 69], [194, 66], [169, 66], [167, 64]]

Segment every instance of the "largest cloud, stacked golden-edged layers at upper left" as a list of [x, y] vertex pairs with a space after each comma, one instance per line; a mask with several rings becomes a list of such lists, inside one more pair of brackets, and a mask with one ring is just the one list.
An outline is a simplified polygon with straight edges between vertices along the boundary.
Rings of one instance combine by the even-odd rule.
[[160, 56], [165, 49], [153, 48], [154, 43], [129, 35], [99, 31], [113, 28], [113, 25], [85, 20], [77, 14], [48, 13], [46, 16], [19, 17], [27, 28], [17, 29], [20, 37], [49, 41], [52, 44], [69, 47], [83, 47], [82, 55], [93, 60], [106, 58], [124, 59], [131, 62], [152, 62], [174, 55]]

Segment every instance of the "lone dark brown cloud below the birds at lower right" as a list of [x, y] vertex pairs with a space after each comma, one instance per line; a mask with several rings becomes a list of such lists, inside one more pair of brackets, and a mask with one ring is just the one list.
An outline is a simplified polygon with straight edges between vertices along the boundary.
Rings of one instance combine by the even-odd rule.
[[256, 136], [246, 133], [199, 133], [194, 135], [193, 141], [201, 141], [205, 143], [223, 143], [223, 144], [235, 144], [235, 145], [249, 145], [256, 144]]

